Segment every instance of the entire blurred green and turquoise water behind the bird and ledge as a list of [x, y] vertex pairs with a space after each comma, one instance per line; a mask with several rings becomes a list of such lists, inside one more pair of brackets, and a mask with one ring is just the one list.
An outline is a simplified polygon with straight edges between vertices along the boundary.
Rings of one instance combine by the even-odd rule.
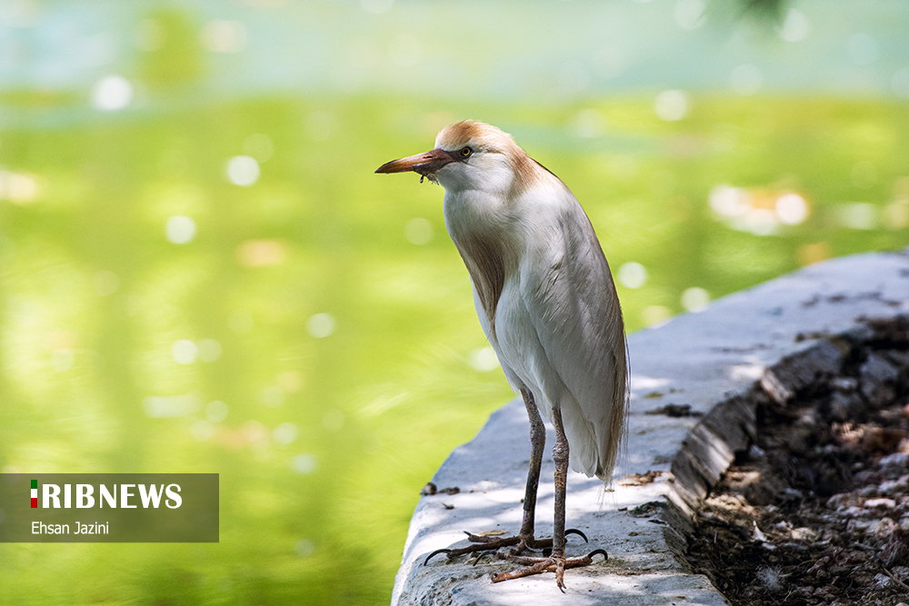
[[[0, 2], [0, 469], [218, 472], [219, 544], [3, 544], [0, 604], [385, 603], [512, 397], [443, 190], [473, 117], [584, 204], [630, 332], [906, 244], [909, 7]], [[775, 5], [775, 3], [771, 3]]]

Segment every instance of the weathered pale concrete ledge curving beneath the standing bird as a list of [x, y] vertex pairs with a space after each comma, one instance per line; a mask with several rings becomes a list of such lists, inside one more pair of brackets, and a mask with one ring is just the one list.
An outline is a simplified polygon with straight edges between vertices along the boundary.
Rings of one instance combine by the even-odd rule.
[[[436, 549], [467, 544], [463, 531], [512, 534], [520, 526], [529, 430], [523, 403], [509, 402], [436, 472], [440, 489], [461, 492], [420, 500], [392, 604], [725, 604], [679, 554], [689, 507], [747, 445], [753, 421], [741, 402], [756, 389], [789, 397], [811, 373], [835, 363], [822, 337], [863, 330], [861, 317], [907, 313], [907, 302], [909, 257], [868, 253], [817, 263], [634, 333], [627, 453], [614, 491], [580, 474], [568, 479], [567, 525], [590, 538], [588, 546], [570, 537], [569, 556], [603, 547], [609, 560], [566, 571], [564, 594], [552, 573], [493, 584], [493, 571], [515, 566], [489, 557], [471, 565], [439, 555], [423, 565]], [[786, 356], [796, 362], [780, 364]], [[646, 413], [667, 404], [687, 404], [697, 416]], [[550, 431], [549, 445], [553, 439]], [[543, 465], [538, 536], [551, 533], [553, 520], [551, 457]], [[630, 475], [648, 472], [653, 482]]]

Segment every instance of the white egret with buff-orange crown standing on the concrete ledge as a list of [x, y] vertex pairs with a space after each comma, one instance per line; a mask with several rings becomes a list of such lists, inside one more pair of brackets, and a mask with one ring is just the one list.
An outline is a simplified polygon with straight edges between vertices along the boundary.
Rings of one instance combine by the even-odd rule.
[[[510, 546], [510, 553], [495, 555], [525, 568], [494, 575], [493, 581], [554, 571], [562, 589], [565, 568], [591, 563], [594, 553], [605, 556], [597, 550], [565, 558], [568, 467], [608, 482], [624, 439], [626, 348], [609, 266], [574, 194], [495, 126], [471, 120], [450, 124], [435, 138], [432, 151], [383, 164], [375, 172], [406, 171], [445, 187], [445, 227], [470, 273], [480, 324], [508, 382], [524, 397], [531, 427], [518, 534], [468, 533], [475, 544], [435, 551], [429, 558]], [[552, 540], [534, 538], [545, 445], [540, 413], [553, 423], [556, 436]], [[580, 531], [568, 533], [584, 537]], [[518, 555], [549, 545], [548, 556]]]

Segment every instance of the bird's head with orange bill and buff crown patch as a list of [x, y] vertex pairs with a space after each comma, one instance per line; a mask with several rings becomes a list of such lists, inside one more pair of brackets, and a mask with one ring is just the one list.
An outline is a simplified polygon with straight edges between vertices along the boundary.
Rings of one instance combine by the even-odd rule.
[[435, 149], [382, 164], [375, 172], [413, 171], [447, 191], [506, 193], [514, 190], [516, 180], [526, 181], [533, 174], [531, 164], [510, 134], [490, 124], [463, 120], [439, 132]]

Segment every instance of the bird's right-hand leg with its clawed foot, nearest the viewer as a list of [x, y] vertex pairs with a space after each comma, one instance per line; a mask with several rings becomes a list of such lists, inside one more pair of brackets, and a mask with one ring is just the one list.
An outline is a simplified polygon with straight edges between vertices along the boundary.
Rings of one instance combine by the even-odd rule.
[[[553, 460], [555, 462], [553, 551], [548, 557], [544, 558], [526, 558], [515, 554], [496, 553], [495, 557], [500, 560], [516, 561], [520, 564], [524, 564], [526, 568], [513, 572], [494, 574], [493, 582], [519, 579], [532, 574], [539, 574], [544, 571], [554, 571], [555, 583], [560, 590], [564, 591], [564, 571], [566, 568], [588, 566], [594, 561], [594, 555], [597, 553], [603, 555], [604, 558], [607, 557], [605, 551], [595, 550], [581, 558], [574, 558], [571, 560], [565, 558], [565, 492], [568, 485], [568, 438], [565, 436], [564, 425], [562, 423], [562, 411], [558, 406], [553, 406], [553, 425], [555, 426], [555, 444], [553, 446]], [[526, 511], [524, 514], [526, 515]]]

